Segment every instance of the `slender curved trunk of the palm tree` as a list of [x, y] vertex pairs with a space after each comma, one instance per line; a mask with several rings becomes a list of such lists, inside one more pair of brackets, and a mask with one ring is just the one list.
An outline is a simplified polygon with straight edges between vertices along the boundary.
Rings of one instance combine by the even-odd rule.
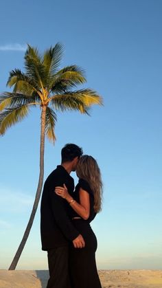
[[36, 214], [36, 210], [38, 208], [38, 202], [40, 199], [42, 187], [43, 187], [43, 177], [44, 177], [44, 152], [45, 152], [45, 114], [46, 114], [47, 107], [44, 105], [42, 107], [41, 111], [41, 130], [40, 130], [40, 172], [39, 172], [39, 180], [38, 180], [38, 187], [36, 190], [36, 197], [34, 200], [34, 205], [32, 208], [32, 213], [30, 215], [30, 220], [27, 223], [27, 228], [23, 234], [23, 239], [21, 240], [21, 243], [19, 245], [19, 248], [14, 256], [14, 259], [9, 267], [9, 270], [14, 270], [16, 268], [16, 265], [19, 261], [19, 258], [21, 256], [21, 253], [23, 252], [23, 248], [25, 246], [25, 243], [27, 241], [27, 238], [30, 234], [30, 230], [32, 228], [32, 223], [34, 221], [34, 217]]

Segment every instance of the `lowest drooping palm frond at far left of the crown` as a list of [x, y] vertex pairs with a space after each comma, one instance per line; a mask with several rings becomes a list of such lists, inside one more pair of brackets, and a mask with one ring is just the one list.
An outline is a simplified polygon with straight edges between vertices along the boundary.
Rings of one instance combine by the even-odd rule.
[[3, 135], [8, 128], [17, 122], [21, 122], [29, 113], [29, 109], [28, 105], [23, 105], [5, 109], [0, 113], [0, 135]]

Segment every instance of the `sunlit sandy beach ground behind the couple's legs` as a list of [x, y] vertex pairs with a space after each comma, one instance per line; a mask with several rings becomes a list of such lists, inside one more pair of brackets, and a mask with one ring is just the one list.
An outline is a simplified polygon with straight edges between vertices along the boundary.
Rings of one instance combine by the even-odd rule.
[[[162, 288], [162, 270], [99, 270], [99, 275], [102, 288]], [[45, 288], [47, 279], [46, 270], [0, 270], [1, 288]]]

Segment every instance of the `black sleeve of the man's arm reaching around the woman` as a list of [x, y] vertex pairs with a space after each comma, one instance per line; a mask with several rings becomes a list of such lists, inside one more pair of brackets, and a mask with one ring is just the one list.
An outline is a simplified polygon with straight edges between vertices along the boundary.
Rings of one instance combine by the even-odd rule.
[[74, 228], [67, 214], [67, 203], [65, 199], [56, 195], [54, 191], [51, 192], [51, 207], [54, 214], [54, 219], [65, 237], [73, 241], [79, 236], [79, 232]]

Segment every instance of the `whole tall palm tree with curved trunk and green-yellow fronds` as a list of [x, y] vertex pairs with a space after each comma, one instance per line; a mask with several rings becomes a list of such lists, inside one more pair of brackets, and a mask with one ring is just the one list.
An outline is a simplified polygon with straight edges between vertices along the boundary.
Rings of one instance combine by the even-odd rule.
[[73, 90], [86, 82], [80, 67], [71, 65], [58, 70], [62, 50], [62, 45], [57, 43], [41, 55], [37, 48], [28, 45], [24, 56], [25, 73], [20, 69], [10, 71], [7, 85], [13, 87], [13, 91], [4, 92], [0, 96], [0, 135], [27, 117], [30, 107], [38, 105], [41, 110], [38, 188], [30, 220], [9, 270], [16, 268], [32, 228], [43, 187], [45, 135], [52, 142], [56, 140], [56, 111], [78, 110], [88, 114], [92, 104], [102, 104], [102, 98], [92, 89]]

